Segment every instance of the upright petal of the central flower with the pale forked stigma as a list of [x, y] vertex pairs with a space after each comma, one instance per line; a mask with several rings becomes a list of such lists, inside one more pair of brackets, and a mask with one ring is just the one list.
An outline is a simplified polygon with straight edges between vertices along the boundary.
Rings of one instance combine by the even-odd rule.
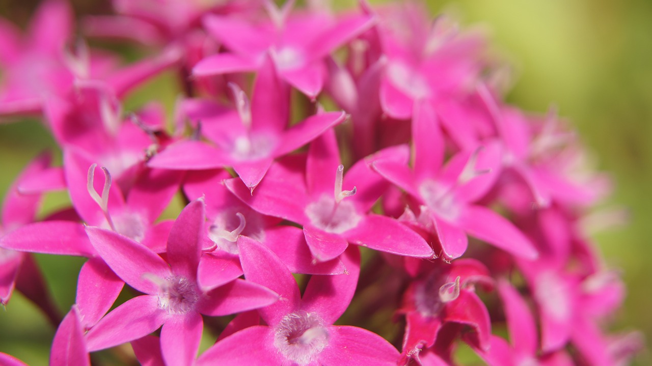
[[[340, 149], [333, 128], [329, 128], [310, 143], [306, 160], [306, 182], [312, 197], [333, 194], [335, 172], [340, 165]], [[344, 188], [350, 190], [351, 187]]]

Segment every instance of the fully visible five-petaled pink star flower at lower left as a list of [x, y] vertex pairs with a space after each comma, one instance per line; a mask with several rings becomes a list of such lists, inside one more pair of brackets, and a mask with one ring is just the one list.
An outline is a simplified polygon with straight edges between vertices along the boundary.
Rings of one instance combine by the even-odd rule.
[[215, 287], [198, 283], [204, 220], [203, 201], [184, 208], [170, 231], [167, 262], [116, 232], [87, 227], [102, 259], [128, 285], [144, 293], [115, 308], [86, 333], [89, 351], [138, 339], [163, 326], [166, 363], [192, 365], [203, 330], [201, 314], [228, 315], [278, 300], [273, 291], [242, 279]]

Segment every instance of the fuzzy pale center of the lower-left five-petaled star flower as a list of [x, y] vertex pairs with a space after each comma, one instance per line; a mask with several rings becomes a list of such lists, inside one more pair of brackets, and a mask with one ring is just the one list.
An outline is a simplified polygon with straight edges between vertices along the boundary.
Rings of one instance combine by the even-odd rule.
[[170, 276], [159, 281], [158, 307], [172, 314], [185, 314], [195, 309], [200, 296], [194, 281], [183, 276]]

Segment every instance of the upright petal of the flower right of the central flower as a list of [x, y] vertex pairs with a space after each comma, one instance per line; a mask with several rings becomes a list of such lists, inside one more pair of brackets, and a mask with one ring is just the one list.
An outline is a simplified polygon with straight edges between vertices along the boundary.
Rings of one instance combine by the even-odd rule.
[[437, 176], [443, 163], [445, 145], [437, 117], [428, 102], [415, 103], [412, 115], [412, 143], [414, 173], [417, 179]]

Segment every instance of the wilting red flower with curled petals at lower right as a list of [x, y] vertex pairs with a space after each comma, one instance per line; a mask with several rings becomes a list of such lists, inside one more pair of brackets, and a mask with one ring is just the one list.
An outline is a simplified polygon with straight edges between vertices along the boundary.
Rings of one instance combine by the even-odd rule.
[[[470, 326], [474, 330], [470, 342], [484, 350], [489, 348], [491, 320], [484, 303], [475, 294], [476, 283], [488, 289], [492, 287], [489, 271], [474, 259], [436, 264], [422, 271], [404, 294], [400, 309], [407, 320], [402, 353], [404, 365], [410, 359], [421, 363], [421, 350], [435, 345], [445, 324]], [[439, 345], [441, 347], [443, 345]], [[450, 359], [450, 345], [446, 348], [445, 353], [438, 356]]]

